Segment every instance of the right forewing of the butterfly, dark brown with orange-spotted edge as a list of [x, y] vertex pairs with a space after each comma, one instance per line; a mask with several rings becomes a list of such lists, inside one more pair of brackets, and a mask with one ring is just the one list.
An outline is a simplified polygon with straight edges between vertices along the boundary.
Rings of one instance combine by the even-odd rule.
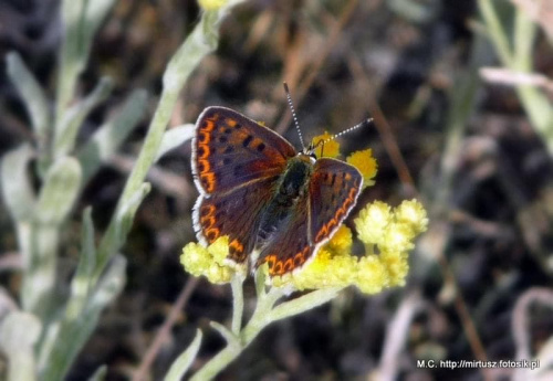
[[363, 187], [359, 171], [343, 161], [321, 158], [310, 179], [310, 235], [313, 244], [326, 242], [355, 205]]

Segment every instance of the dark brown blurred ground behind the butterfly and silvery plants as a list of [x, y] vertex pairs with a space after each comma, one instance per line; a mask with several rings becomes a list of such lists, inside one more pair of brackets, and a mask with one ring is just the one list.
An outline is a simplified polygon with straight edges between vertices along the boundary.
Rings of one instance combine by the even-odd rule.
[[[195, 123], [205, 107], [220, 105], [264, 121], [300, 148], [285, 81], [307, 139], [375, 119], [340, 139], [342, 152], [372, 148], [378, 160], [376, 183], [352, 216], [369, 201], [397, 205], [417, 198], [430, 225], [411, 253], [405, 287], [371, 297], [346, 289], [321, 308], [275, 324], [219, 380], [517, 377], [513, 368], [417, 367], [420, 359], [538, 356], [542, 368], [547, 358], [552, 367], [553, 7], [543, 1], [536, 11], [536, 3], [249, 0], [225, 18], [219, 47], [190, 76], [170, 125]], [[486, 7], [494, 9], [511, 59]], [[520, 12], [532, 20], [530, 54], [515, 39]], [[53, 97], [59, 13], [56, 0], [0, 1], [0, 156], [33, 139], [3, 56], [19, 52]], [[98, 30], [77, 92], [91, 92], [104, 75], [115, 86], [83, 123], [77, 141], [86, 141], [133, 89], [146, 89], [148, 107], [123, 149], [85, 184], [62, 235], [60, 278], [77, 262], [84, 208], [93, 207], [98, 232], [106, 229], [165, 66], [199, 14], [192, 0], [119, 0]], [[84, 380], [103, 363], [106, 380], [131, 380], [185, 287], [186, 306], [146, 379], [160, 379], [197, 328], [205, 336], [195, 367], [225, 345], [209, 321], [229, 321], [230, 287], [205, 279], [190, 286], [179, 264], [181, 247], [196, 240], [190, 144], [166, 155], [148, 181], [153, 190], [123, 248], [125, 289], [102, 315], [67, 380]], [[21, 261], [2, 203], [0, 234], [0, 285], [17, 301]], [[246, 297], [253, 295], [250, 284]]]

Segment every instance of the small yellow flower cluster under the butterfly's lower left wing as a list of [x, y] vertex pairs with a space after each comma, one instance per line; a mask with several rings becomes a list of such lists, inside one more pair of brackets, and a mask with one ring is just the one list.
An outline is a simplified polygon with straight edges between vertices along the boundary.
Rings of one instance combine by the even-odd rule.
[[216, 242], [205, 247], [190, 242], [182, 248], [180, 263], [194, 276], [206, 276], [210, 283], [229, 283], [234, 273], [244, 273], [246, 268], [232, 265], [227, 260], [229, 255], [229, 239], [221, 236]]

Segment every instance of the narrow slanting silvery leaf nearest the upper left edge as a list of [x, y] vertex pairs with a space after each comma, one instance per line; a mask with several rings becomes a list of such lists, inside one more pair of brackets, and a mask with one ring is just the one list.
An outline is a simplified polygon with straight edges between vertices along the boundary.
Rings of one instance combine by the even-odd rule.
[[39, 147], [43, 147], [46, 142], [48, 128], [51, 124], [46, 96], [18, 53], [9, 53], [6, 61], [11, 83], [17, 87], [19, 94], [21, 94], [23, 103], [29, 110]]

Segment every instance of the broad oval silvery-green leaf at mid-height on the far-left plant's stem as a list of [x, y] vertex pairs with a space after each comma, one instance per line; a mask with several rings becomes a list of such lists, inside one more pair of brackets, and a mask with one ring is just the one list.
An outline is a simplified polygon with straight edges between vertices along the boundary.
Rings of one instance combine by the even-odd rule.
[[50, 167], [39, 195], [38, 221], [60, 224], [67, 216], [81, 188], [81, 166], [75, 158], [62, 157]]

